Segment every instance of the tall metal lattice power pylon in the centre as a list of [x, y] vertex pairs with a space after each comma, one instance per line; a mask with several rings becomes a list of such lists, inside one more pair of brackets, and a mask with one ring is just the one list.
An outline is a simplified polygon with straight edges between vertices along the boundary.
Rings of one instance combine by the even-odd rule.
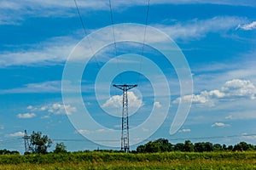
[[129, 122], [128, 122], [128, 96], [127, 96], [127, 91], [130, 90], [131, 88], [137, 87], [137, 84], [134, 84], [134, 85], [113, 84], [113, 87], [119, 88], [123, 91], [121, 150], [125, 150], [125, 152], [128, 152], [130, 150], [130, 146], [129, 146]]

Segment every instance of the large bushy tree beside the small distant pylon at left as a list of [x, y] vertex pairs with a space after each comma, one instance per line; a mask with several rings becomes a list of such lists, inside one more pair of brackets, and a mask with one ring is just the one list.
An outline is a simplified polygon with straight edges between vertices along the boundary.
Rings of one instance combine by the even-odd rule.
[[52, 140], [41, 132], [33, 132], [31, 135], [31, 144], [33, 153], [46, 154], [47, 149], [51, 146]]

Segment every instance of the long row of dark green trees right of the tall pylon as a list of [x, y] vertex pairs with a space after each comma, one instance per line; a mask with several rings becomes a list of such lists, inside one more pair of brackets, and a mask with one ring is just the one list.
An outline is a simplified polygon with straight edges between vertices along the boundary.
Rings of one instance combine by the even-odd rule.
[[153, 153], [168, 151], [203, 152], [203, 151], [246, 151], [256, 150], [256, 145], [240, 142], [238, 144], [212, 144], [211, 142], [197, 142], [193, 144], [190, 140], [184, 143], [171, 144], [168, 139], [157, 139], [147, 144], [137, 146], [137, 153]]

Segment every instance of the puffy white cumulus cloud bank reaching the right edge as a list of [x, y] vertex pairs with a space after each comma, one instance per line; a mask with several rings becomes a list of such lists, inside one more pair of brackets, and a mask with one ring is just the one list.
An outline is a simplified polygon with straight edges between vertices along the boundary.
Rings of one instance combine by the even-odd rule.
[[192, 101], [196, 105], [214, 106], [219, 100], [232, 100], [239, 98], [255, 99], [256, 88], [249, 80], [233, 79], [225, 82], [220, 89], [202, 91], [200, 94], [185, 95], [173, 101], [178, 104], [180, 101]]

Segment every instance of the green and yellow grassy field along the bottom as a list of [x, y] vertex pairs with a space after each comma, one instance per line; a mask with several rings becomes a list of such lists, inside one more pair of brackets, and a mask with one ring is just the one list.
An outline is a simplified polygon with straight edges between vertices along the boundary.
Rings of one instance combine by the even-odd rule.
[[5, 155], [0, 169], [256, 169], [256, 151]]

